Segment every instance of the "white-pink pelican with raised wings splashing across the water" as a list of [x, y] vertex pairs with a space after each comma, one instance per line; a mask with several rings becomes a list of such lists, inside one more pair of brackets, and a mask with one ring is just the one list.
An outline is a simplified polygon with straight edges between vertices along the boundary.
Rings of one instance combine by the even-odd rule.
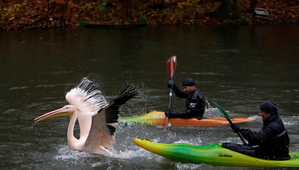
[[[130, 85], [129, 85], [130, 86]], [[108, 148], [115, 143], [115, 126], [118, 124], [120, 105], [138, 96], [135, 88], [125, 88], [113, 101], [107, 103], [102, 93], [88, 78], [67, 92], [65, 99], [70, 105], [35, 118], [44, 121], [54, 117], [70, 117], [67, 144], [71, 149], [101, 155], [115, 156]], [[78, 119], [80, 138], [74, 137], [74, 125]]]

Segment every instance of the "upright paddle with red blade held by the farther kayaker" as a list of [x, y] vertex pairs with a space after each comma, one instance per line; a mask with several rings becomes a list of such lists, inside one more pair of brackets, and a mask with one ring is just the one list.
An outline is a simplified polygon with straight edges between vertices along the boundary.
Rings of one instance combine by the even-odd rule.
[[[175, 73], [175, 68], [177, 67], [177, 56], [172, 56], [169, 58], [166, 62], [166, 69], [168, 71], [168, 74], [170, 76], [170, 80], [172, 80], [172, 76]], [[171, 105], [171, 96], [172, 96], [172, 89], [170, 88], [169, 93], [169, 104], [168, 104], [168, 112], [170, 111], [170, 105]], [[168, 117], [166, 117], [165, 125], [163, 127], [163, 131], [166, 129], [168, 124]]]

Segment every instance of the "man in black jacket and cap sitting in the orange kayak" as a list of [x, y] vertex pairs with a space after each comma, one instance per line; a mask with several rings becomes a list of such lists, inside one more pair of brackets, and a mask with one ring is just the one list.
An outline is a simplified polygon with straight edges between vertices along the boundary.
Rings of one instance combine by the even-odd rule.
[[166, 117], [181, 117], [186, 119], [195, 117], [197, 119], [201, 119], [205, 109], [204, 94], [202, 94], [202, 92], [200, 92], [200, 90], [195, 87], [195, 83], [192, 78], [186, 78], [185, 80], [183, 80], [183, 83], [181, 85], [183, 86], [183, 90], [180, 90], [179, 87], [175, 85], [174, 80], [168, 81], [168, 87], [172, 88], [176, 96], [178, 96], [179, 98], [186, 98], [186, 110], [170, 110], [169, 112], [167, 110], [165, 112]]

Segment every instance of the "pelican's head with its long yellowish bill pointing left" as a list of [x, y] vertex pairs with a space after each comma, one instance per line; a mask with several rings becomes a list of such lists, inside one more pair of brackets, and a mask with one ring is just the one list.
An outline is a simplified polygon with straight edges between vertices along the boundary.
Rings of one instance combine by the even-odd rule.
[[79, 108], [76, 108], [76, 106], [74, 106], [74, 105], [65, 105], [65, 106], [63, 106], [63, 108], [48, 112], [48, 113], [43, 114], [42, 116], [40, 116], [38, 118], [35, 118], [34, 122], [45, 121], [47, 119], [51, 119], [51, 118], [54, 118], [54, 117], [71, 116], [77, 110], [79, 110]]

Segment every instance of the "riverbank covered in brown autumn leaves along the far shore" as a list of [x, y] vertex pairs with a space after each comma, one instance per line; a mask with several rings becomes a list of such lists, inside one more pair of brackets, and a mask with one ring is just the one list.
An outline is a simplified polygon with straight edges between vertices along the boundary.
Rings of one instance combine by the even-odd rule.
[[210, 13], [220, 6], [214, 0], [86, 0], [28, 1], [0, 3], [1, 30], [28, 28], [64, 28], [111, 25], [257, 25], [299, 23], [299, 0], [257, 1], [257, 8], [268, 16], [248, 12], [250, 1], [238, 1], [241, 12], [236, 20], [213, 18]]

